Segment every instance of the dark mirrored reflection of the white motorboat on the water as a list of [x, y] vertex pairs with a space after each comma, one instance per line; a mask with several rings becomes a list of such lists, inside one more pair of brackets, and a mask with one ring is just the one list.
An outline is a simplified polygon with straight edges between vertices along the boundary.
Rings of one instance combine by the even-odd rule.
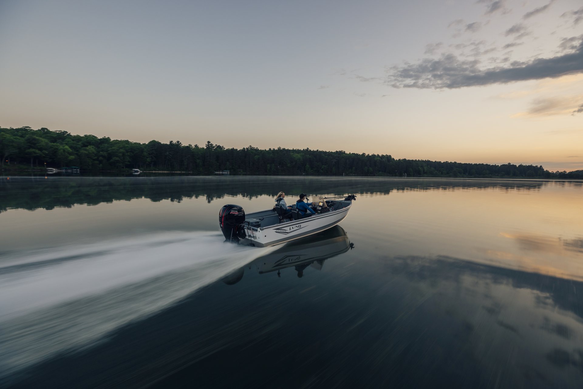
[[[294, 267], [297, 276], [301, 278], [308, 267], [321, 270], [329, 258], [352, 250], [346, 231], [340, 226], [334, 226], [324, 232], [300, 238], [286, 243], [277, 250], [257, 258], [246, 267], [257, 267], [259, 274], [278, 272], [284, 268]], [[243, 278], [245, 267], [240, 268], [223, 278], [227, 285], [233, 285]]]

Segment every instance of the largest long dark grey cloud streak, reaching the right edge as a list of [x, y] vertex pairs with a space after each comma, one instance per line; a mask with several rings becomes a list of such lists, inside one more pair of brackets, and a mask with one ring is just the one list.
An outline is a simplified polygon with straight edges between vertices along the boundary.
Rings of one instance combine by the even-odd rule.
[[556, 57], [514, 61], [486, 69], [479, 65], [478, 59], [459, 59], [452, 53], [444, 53], [437, 59], [424, 58], [416, 64], [388, 68], [385, 83], [396, 88], [455, 89], [583, 73], [583, 39], [580, 38], [575, 51]]

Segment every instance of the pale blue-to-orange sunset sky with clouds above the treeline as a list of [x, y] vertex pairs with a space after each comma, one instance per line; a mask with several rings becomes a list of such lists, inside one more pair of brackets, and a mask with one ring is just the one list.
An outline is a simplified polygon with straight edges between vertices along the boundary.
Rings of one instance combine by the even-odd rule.
[[581, 0], [0, 0], [0, 126], [583, 169]]

